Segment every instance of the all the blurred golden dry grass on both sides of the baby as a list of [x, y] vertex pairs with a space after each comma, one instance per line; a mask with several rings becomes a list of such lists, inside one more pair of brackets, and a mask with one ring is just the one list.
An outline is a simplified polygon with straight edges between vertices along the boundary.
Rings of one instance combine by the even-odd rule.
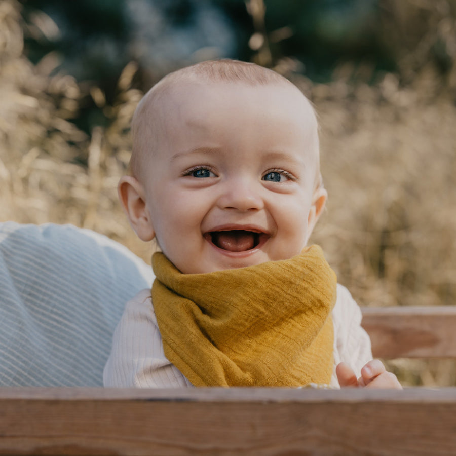
[[[408, 6], [408, 13], [417, 8], [411, 1], [391, 4]], [[456, 304], [456, 21], [438, 8], [431, 11], [434, 35], [426, 34], [424, 45], [417, 39], [401, 60], [405, 84], [385, 74], [368, 85], [369, 69], [350, 65], [326, 85], [294, 77], [318, 111], [329, 192], [313, 241], [361, 305]], [[401, 10], [395, 17], [413, 15]], [[32, 65], [22, 54], [27, 26], [18, 2], [0, 3], [0, 221], [89, 227], [149, 261], [151, 247], [134, 236], [116, 190], [142, 95], [131, 88], [135, 65], [125, 68], [115, 102], [106, 105], [99, 88], [83, 89], [64, 74], [51, 77], [55, 56]], [[423, 57], [433, 39], [454, 48], [444, 77]], [[270, 58], [261, 48], [267, 40], [260, 42], [258, 55]], [[292, 64], [284, 59], [276, 68], [286, 72]], [[70, 122], [89, 95], [111, 119], [90, 137]], [[405, 384], [456, 384], [453, 361], [391, 366]]]

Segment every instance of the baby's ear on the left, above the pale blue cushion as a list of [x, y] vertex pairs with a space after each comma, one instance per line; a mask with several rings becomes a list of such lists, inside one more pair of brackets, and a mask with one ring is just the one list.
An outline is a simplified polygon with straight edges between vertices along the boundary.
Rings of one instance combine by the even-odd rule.
[[119, 199], [130, 224], [142, 241], [155, 238], [154, 226], [145, 201], [143, 186], [132, 176], [123, 176], [117, 187]]

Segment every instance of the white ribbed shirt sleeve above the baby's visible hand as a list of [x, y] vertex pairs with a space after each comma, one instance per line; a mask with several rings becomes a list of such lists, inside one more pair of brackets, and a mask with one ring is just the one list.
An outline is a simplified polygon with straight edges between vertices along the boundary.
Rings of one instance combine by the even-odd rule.
[[361, 309], [352, 295], [342, 285], [337, 284], [337, 299], [332, 311], [334, 324], [334, 373], [331, 386], [337, 386], [335, 366], [348, 363], [359, 377], [361, 368], [372, 359], [370, 338], [361, 327]]

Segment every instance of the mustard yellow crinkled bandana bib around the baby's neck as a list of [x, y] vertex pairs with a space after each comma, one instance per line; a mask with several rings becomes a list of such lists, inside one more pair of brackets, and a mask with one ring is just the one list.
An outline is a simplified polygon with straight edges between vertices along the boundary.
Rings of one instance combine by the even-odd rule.
[[155, 253], [165, 355], [195, 386], [329, 384], [336, 277], [318, 246], [289, 260], [182, 274]]

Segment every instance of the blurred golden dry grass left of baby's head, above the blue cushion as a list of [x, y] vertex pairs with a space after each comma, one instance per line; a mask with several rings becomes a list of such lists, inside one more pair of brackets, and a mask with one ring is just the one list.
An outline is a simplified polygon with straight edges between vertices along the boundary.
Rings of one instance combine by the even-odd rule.
[[[106, 105], [99, 88], [83, 89], [65, 74], [51, 77], [55, 55], [35, 66], [27, 60], [22, 30], [29, 26], [18, 2], [0, 3], [0, 220], [72, 223], [138, 253], [144, 245], [132, 235], [117, 201], [117, 182], [129, 160], [130, 120], [142, 96], [131, 88], [136, 66], [124, 69], [117, 97]], [[90, 137], [70, 122], [86, 96], [111, 120]]]

